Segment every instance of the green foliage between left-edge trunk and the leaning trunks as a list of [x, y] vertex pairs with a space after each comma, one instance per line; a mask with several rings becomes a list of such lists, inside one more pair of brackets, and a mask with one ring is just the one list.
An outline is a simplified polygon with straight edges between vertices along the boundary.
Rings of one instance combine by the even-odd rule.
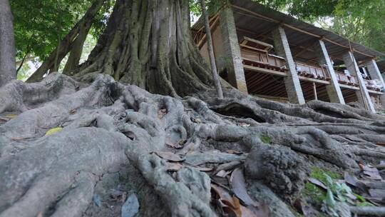
[[[113, 2], [109, 0], [98, 14], [91, 29], [94, 36], [101, 34], [106, 26]], [[93, 0], [13, 0], [10, 3], [14, 14], [16, 59], [31, 54], [43, 61], [86, 13]]]

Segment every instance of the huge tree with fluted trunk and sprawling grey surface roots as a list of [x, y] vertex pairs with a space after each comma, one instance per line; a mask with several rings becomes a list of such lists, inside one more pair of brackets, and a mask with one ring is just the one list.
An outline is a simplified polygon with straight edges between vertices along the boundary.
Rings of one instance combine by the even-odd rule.
[[[98, 2], [51, 55], [78, 52]], [[218, 216], [229, 204], [210, 203], [210, 183], [228, 183], [207, 167], [234, 166], [251, 194], [237, 173], [243, 212], [265, 202], [272, 216], [293, 216], [310, 166], [354, 171], [385, 157], [382, 115], [266, 101], [225, 81], [217, 98], [189, 15], [187, 0], [117, 0], [86, 63], [58, 74], [48, 58], [31, 77], [48, 73], [42, 81], [0, 89], [1, 217], [116, 216], [122, 191], [136, 193], [141, 216]]]

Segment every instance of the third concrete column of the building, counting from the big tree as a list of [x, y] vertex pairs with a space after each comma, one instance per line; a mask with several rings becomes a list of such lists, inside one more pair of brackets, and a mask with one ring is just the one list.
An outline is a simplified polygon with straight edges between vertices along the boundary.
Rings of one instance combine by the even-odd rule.
[[327, 53], [324, 41], [319, 40], [315, 45], [315, 51], [318, 56], [318, 64], [320, 66], [327, 65], [330, 76], [330, 84], [327, 86], [327, 94], [332, 103], [345, 104], [344, 96], [342, 95], [341, 88], [339, 87], [338, 79], [333, 68], [332, 61], [330, 61], [329, 54]]

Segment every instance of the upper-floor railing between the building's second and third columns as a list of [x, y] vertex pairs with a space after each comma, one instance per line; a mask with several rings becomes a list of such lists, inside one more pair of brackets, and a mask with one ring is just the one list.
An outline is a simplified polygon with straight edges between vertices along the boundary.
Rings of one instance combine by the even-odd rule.
[[313, 79], [320, 79], [329, 81], [330, 76], [325, 66], [315, 66], [311, 64], [304, 64], [302, 62], [295, 62], [295, 68], [300, 76], [305, 76]]

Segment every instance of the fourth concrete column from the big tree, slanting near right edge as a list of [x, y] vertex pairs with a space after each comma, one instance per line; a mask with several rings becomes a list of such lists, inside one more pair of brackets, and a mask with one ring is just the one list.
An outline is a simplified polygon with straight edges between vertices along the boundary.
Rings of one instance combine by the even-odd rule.
[[359, 83], [359, 91], [356, 91], [357, 99], [364, 106], [366, 104], [367, 106], [366, 109], [368, 109], [371, 112], [376, 112], [376, 110], [374, 109], [373, 102], [370, 99], [368, 89], [366, 89], [364, 79], [362, 78], [361, 73], [359, 72], [359, 67], [356, 63], [356, 59], [354, 59], [353, 54], [351, 54], [351, 52], [348, 51], [346, 54], [344, 54], [343, 59], [344, 59], [345, 65], [347, 66], [347, 70], [351, 74], [356, 76], [356, 79]]

